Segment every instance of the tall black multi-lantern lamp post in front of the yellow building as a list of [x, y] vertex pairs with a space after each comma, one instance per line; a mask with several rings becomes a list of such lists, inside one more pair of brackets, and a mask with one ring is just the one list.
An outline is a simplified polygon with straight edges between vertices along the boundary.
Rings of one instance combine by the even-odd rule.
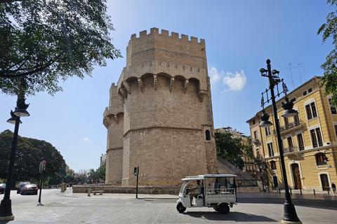
[[[282, 176], [284, 181], [284, 190], [285, 190], [285, 202], [284, 202], [284, 216], [282, 223], [302, 223], [296, 214], [296, 209], [293, 203], [291, 202], [291, 197], [289, 193], [289, 186], [288, 181], [286, 178], [286, 167], [284, 165], [284, 155], [283, 155], [283, 148], [281, 144], [281, 134], [279, 132], [279, 123], [277, 119], [277, 108], [276, 108], [276, 102], [275, 102], [275, 92], [274, 88], [277, 87], [277, 97], [279, 97], [279, 94], [288, 92], [286, 85], [283, 83], [283, 79], [279, 79], [279, 71], [272, 70], [270, 66], [270, 59], [267, 59], [267, 70], [266, 69], [260, 69], [260, 73], [264, 77], [269, 78], [269, 89], [270, 90], [270, 99], [272, 100], [272, 110], [274, 112], [274, 121], [275, 121], [275, 130], [277, 135], [277, 146], [279, 147], [279, 162], [281, 163], [281, 169], [282, 169]], [[282, 82], [283, 91], [279, 92], [278, 84]], [[266, 102], [269, 102], [270, 99], [268, 97], [268, 90], [265, 90], [265, 92], [262, 93], [262, 100], [261, 100], [261, 106], [263, 107], [263, 116], [260, 117], [262, 122], [260, 123], [260, 127], [270, 127], [272, 123], [270, 123], [269, 115], [265, 113], [264, 110], [264, 104]], [[263, 94], [267, 94], [267, 101], [265, 102], [263, 99]], [[282, 117], [284, 118], [291, 118], [293, 116], [296, 116], [298, 113], [297, 111], [293, 110], [293, 103], [289, 102], [288, 97], [286, 96], [286, 102], [282, 103], [282, 107], [284, 108], [284, 113], [282, 113]]]

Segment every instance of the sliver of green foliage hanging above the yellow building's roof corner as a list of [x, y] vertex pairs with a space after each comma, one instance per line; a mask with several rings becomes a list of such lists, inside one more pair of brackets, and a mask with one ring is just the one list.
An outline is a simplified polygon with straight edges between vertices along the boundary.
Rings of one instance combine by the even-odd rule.
[[[336, 0], [328, 0], [326, 3], [337, 6]], [[325, 95], [332, 93], [331, 104], [337, 106], [337, 10], [326, 16], [326, 22], [319, 27], [317, 34], [323, 35], [323, 43], [329, 37], [333, 38], [334, 48], [326, 56], [326, 62], [321, 65], [321, 68], [324, 69], [324, 76], [320, 86], [325, 85]]]

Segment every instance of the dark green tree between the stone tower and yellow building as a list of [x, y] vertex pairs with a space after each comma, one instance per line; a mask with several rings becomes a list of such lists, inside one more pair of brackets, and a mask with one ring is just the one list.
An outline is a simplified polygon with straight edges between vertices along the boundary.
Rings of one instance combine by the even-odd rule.
[[232, 138], [232, 134], [227, 132], [216, 133], [216, 153], [239, 169], [244, 169], [242, 148], [242, 139]]

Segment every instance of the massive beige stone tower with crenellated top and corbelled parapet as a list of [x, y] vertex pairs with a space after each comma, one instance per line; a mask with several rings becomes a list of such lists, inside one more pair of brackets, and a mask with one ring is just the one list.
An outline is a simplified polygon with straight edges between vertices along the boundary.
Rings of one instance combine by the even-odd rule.
[[216, 174], [205, 41], [159, 29], [126, 48], [126, 67], [110, 88], [106, 183], [180, 186], [185, 176]]

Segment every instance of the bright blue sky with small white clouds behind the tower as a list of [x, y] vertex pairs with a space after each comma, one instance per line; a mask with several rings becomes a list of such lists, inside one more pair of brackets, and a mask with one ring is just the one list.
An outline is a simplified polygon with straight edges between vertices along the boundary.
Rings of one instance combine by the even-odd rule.
[[[246, 120], [260, 111], [261, 92], [269, 87], [260, 68], [279, 71], [289, 91], [313, 76], [322, 76], [320, 65], [333, 49], [322, 43], [317, 29], [336, 6], [316, 0], [124, 0], [107, 1], [115, 48], [124, 58], [95, 67], [92, 77], [69, 78], [54, 96], [29, 96], [19, 135], [48, 141], [60, 151], [75, 172], [98, 169], [106, 153], [107, 129], [103, 112], [109, 90], [126, 66], [126, 46], [132, 34], [152, 27], [204, 39], [213, 104], [214, 127], [232, 127], [249, 136]], [[290, 68], [290, 69], [289, 69]], [[0, 93], [0, 132], [14, 131], [6, 123], [16, 97]], [[48, 161], [47, 161], [48, 162]]]

